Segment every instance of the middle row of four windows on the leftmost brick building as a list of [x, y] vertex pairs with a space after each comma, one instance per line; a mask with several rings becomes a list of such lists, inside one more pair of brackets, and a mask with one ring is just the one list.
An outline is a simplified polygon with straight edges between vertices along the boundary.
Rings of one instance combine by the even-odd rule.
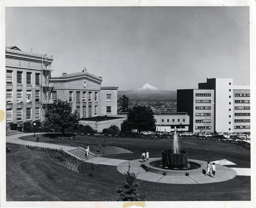
[[[32, 90], [26, 91], [26, 101], [32, 102], [32, 96], [31, 96]], [[17, 90], [17, 102], [23, 102], [23, 96], [22, 96], [22, 90]], [[12, 90], [6, 90], [6, 102], [13, 102], [12, 100]], [[40, 90], [35, 91], [35, 101], [40, 102]]]

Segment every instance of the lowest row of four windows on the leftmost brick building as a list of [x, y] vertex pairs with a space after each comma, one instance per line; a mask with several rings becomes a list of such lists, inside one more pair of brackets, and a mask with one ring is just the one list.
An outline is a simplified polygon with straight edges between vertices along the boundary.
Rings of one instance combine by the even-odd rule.
[[[31, 120], [31, 108], [26, 108], [26, 120]], [[40, 119], [40, 108], [35, 108], [35, 119]], [[12, 122], [12, 108], [6, 109], [6, 122]], [[22, 121], [22, 108], [17, 108], [16, 121]]]

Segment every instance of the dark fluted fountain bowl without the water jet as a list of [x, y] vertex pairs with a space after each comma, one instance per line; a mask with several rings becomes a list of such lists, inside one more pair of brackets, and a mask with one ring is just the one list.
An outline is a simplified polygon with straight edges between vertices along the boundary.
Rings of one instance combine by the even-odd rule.
[[163, 165], [167, 167], [185, 166], [188, 161], [188, 152], [180, 150], [174, 153], [172, 149], [162, 151]]

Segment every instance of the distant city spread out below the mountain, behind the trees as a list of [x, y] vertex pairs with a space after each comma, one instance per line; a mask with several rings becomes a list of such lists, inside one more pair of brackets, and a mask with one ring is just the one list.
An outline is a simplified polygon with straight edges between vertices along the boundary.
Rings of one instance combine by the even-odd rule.
[[170, 112], [177, 111], [177, 102], [167, 99], [130, 99], [131, 104], [129, 108], [134, 106], [149, 106], [153, 112], [166, 110]]

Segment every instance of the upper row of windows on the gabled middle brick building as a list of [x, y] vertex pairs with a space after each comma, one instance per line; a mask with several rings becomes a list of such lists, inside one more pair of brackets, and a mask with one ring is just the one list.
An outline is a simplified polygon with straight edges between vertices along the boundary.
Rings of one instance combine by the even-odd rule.
[[[83, 102], [86, 102], [86, 94], [87, 92], [83, 92], [82, 100]], [[73, 102], [73, 91], [69, 91], [69, 102]], [[57, 101], [57, 92], [52, 91], [51, 92], [51, 101]], [[94, 92], [94, 101], [98, 101], [98, 92]], [[106, 95], [106, 101], [111, 101], [111, 94]], [[76, 92], [76, 102], [80, 102], [80, 91]], [[92, 102], [92, 92], [88, 92], [88, 102]]]

